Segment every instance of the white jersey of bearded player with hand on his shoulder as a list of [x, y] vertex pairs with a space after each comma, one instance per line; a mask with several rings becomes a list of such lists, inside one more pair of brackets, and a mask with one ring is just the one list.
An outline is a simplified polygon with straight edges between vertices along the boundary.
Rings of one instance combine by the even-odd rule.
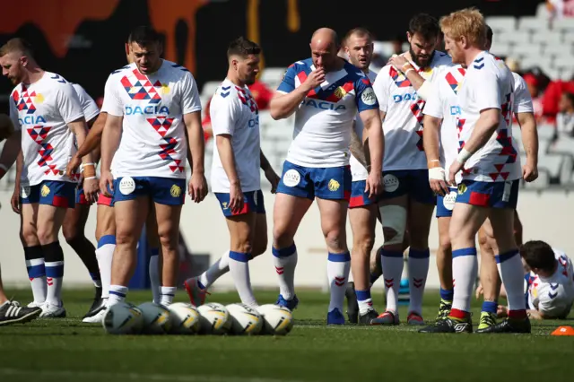
[[[450, 56], [435, 51], [428, 67], [411, 65], [426, 81], [433, 79], [452, 65]], [[378, 72], [373, 84], [380, 109], [387, 113], [383, 120], [385, 132], [385, 159], [383, 170], [427, 169], [422, 147], [422, 109], [424, 100], [419, 99], [411, 82], [393, 65]]]

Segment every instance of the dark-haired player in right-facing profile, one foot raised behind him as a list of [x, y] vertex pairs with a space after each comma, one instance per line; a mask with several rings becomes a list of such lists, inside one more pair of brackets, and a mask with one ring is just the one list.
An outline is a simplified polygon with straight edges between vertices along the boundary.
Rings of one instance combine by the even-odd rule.
[[259, 73], [260, 53], [261, 48], [253, 41], [243, 37], [231, 41], [227, 49], [227, 78], [212, 98], [210, 114], [215, 145], [211, 186], [222, 207], [231, 241], [230, 251], [199, 277], [185, 282], [189, 299], [196, 306], [204, 303], [205, 289], [228, 270], [241, 302], [257, 306], [248, 261], [263, 254], [267, 247], [259, 169], [265, 171], [272, 193], [279, 183], [279, 177], [261, 151], [259, 110], [248, 89]]

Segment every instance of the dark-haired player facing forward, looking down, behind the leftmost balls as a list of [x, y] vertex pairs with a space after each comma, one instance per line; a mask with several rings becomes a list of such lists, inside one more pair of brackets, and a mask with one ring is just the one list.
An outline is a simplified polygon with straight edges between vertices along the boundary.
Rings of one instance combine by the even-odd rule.
[[155, 206], [161, 238], [161, 304], [167, 306], [177, 290], [187, 148], [193, 159], [189, 194], [199, 203], [207, 193], [201, 105], [193, 75], [161, 59], [156, 31], [138, 27], [128, 41], [135, 62], [121, 75], [110, 75], [102, 107], [108, 117], [101, 140], [100, 191], [113, 193], [116, 215], [108, 306], [126, 298], [150, 203]]

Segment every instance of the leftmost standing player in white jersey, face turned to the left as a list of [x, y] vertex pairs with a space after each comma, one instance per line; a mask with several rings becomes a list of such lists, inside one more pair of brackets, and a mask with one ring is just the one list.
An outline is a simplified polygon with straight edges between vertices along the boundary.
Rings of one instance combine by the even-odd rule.
[[[64, 252], [58, 232], [68, 208], [74, 208], [76, 174], [65, 166], [74, 155], [75, 141], [87, 134], [82, 105], [71, 83], [59, 74], [44, 71], [31, 56], [30, 45], [11, 39], [0, 48], [2, 71], [16, 87], [10, 101], [15, 133], [0, 157], [4, 171], [22, 149], [21, 239], [32, 285], [32, 306], [41, 306], [41, 317], [65, 317], [61, 298]], [[22, 134], [22, 132], [25, 132]], [[83, 189], [88, 199], [97, 194], [98, 181], [91, 153], [83, 157]]]

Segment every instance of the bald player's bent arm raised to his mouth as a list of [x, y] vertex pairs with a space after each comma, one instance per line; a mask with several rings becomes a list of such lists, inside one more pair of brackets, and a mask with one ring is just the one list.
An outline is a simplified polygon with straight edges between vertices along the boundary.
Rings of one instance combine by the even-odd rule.
[[271, 117], [275, 120], [290, 117], [299, 108], [309, 91], [325, 81], [325, 70], [317, 69], [309, 73], [305, 82], [299, 87], [295, 87], [295, 76], [297, 76], [295, 66], [291, 65], [269, 104]]

